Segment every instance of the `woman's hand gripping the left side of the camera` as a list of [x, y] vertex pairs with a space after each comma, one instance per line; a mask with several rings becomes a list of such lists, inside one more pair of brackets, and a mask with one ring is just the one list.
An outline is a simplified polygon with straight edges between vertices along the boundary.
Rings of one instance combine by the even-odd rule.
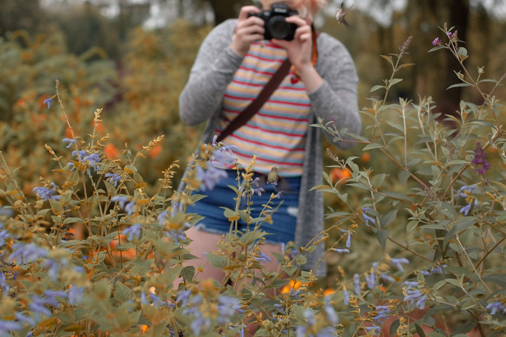
[[260, 9], [244, 6], [239, 12], [231, 45], [232, 51], [239, 56], [246, 55], [252, 42], [264, 39], [264, 20], [256, 16], [248, 17], [249, 13], [260, 13]]

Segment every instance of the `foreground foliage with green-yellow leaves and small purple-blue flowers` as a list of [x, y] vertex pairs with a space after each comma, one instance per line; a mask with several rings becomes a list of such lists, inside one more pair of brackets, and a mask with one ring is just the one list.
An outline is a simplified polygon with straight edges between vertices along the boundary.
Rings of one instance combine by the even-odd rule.
[[[343, 264], [333, 288], [326, 290], [311, 271], [298, 267], [316, 242], [286, 245], [276, 255], [277, 272], [263, 267], [261, 225], [270, 221], [275, 195], [259, 218], [251, 218], [247, 209], [224, 211], [232, 229], [242, 218], [251, 230], [231, 230], [203, 261], [202, 269], [222, 268], [225, 279], [199, 280], [200, 268], [185, 266], [194, 258], [186, 249], [191, 238], [185, 230], [200, 216], [187, 214], [186, 206], [203, 197], [195, 191], [212, 186], [224, 162], [234, 160], [228, 149], [202, 144], [181, 193], [172, 192], [177, 163], [167, 165], [159, 189], [148, 193], [138, 166], [163, 137], [110, 158], [104, 151], [112, 138], [98, 132], [102, 110], [94, 113], [92, 132], [77, 134], [57, 81], [56, 93], [44, 101], [52, 109], [59, 105], [70, 130], [64, 139], [68, 148], [45, 146], [55, 170], [33, 189], [36, 200], [22, 191], [18, 173], [3, 157], [0, 164], [5, 202], [0, 208], [0, 333], [242, 336], [248, 334], [248, 322], [259, 325], [256, 336], [504, 333], [501, 164], [506, 139], [497, 98], [480, 89], [492, 80], [481, 79], [482, 70], [477, 79], [469, 75], [464, 66], [469, 55], [451, 30], [443, 29], [448, 42], [435, 41], [433, 51], [445, 49], [458, 58], [462, 70], [456, 72], [456, 85], [474, 87], [484, 104], [460, 102], [458, 118], [447, 117], [453, 127], [432, 114], [430, 97], [418, 104], [402, 99], [386, 104], [392, 86], [401, 81], [397, 72], [409, 66], [400, 61], [410, 39], [398, 54], [383, 56], [393, 74], [372, 90], [385, 90], [384, 99], [371, 98], [371, 107], [361, 111], [367, 137], [354, 135], [364, 151], [382, 160], [365, 168], [357, 157], [340, 159], [329, 151], [334, 166], [349, 174], [334, 181], [325, 172], [326, 184], [314, 186], [344, 205], [327, 212], [332, 226], [315, 241], [326, 240], [326, 255], [346, 261], [348, 254], [369, 254], [372, 263]], [[346, 132], [332, 123], [314, 127], [336, 139]], [[231, 186], [238, 200], [261, 192], [251, 179], [254, 167], [253, 160]], [[385, 172], [376, 172], [380, 169]], [[368, 232], [376, 245], [365, 241]], [[360, 239], [367, 244], [358, 249]]]

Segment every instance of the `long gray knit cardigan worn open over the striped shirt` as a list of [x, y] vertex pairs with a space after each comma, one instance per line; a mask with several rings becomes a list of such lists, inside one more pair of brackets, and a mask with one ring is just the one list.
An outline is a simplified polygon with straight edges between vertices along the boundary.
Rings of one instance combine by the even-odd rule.
[[[210, 142], [214, 136], [218, 117], [222, 108], [222, 98], [226, 87], [232, 81], [242, 57], [235, 54], [230, 45], [236, 19], [227, 20], [215, 27], [205, 38], [197, 53], [188, 83], [179, 97], [179, 114], [188, 125], [197, 125], [207, 121], [201, 142]], [[310, 124], [334, 121], [339, 130], [359, 134], [361, 122], [357, 105], [358, 77], [355, 64], [346, 47], [332, 36], [321, 33], [317, 38], [318, 59], [315, 68], [323, 78], [323, 84], [309, 94], [311, 100]], [[301, 180], [299, 213], [295, 241], [305, 246], [324, 229], [323, 195], [309, 191], [322, 183], [323, 154], [321, 128], [309, 127], [306, 134], [304, 171]], [[325, 133], [326, 134], [326, 133]], [[326, 134], [332, 142], [332, 137]], [[341, 148], [352, 143], [338, 142]], [[325, 252], [320, 243], [311, 253], [303, 266], [313, 270]], [[326, 275], [325, 261], [316, 270], [317, 276]]]

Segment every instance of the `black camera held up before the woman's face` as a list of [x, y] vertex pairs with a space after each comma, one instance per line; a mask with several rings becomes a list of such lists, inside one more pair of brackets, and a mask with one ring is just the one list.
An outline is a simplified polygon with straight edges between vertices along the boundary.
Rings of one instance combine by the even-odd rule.
[[297, 25], [286, 22], [285, 18], [297, 14], [296, 10], [289, 9], [286, 4], [275, 3], [272, 4], [270, 10], [262, 11], [258, 14], [249, 13], [248, 17], [257, 16], [264, 20], [265, 40], [279, 39], [291, 41], [293, 40], [293, 35], [295, 35]]

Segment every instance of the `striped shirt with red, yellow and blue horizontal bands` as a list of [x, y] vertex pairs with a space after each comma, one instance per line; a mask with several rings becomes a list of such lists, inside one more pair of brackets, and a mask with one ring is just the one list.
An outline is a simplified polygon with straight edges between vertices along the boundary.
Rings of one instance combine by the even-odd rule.
[[[228, 85], [217, 134], [251, 103], [286, 59], [286, 51], [269, 41], [254, 42]], [[293, 70], [262, 108], [223, 140], [233, 149], [239, 164], [247, 166], [256, 155], [255, 171], [269, 173], [276, 165], [285, 177], [302, 175], [310, 100], [302, 81], [294, 81]]]

